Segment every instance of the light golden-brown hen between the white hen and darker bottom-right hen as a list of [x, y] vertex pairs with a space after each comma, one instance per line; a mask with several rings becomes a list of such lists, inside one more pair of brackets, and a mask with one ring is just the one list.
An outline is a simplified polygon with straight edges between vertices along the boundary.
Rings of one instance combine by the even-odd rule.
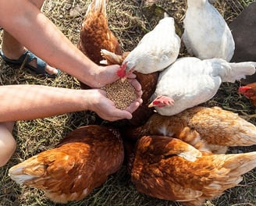
[[194, 107], [177, 115], [154, 114], [143, 126], [123, 128], [123, 137], [137, 140], [144, 135], [176, 137], [200, 151], [225, 153], [228, 146], [256, 144], [256, 126], [219, 107]]

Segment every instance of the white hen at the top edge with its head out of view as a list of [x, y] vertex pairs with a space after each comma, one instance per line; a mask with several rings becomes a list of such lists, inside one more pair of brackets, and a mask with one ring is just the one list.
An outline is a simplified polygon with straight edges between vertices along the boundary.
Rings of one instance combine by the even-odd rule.
[[208, 0], [187, 0], [182, 40], [190, 55], [200, 59], [233, 57], [235, 43], [226, 21]]

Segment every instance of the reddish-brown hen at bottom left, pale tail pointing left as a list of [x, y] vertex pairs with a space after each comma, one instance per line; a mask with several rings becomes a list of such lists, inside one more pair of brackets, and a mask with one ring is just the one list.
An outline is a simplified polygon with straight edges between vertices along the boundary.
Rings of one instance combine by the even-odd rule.
[[55, 148], [9, 169], [16, 183], [44, 190], [52, 201], [78, 201], [105, 183], [123, 164], [119, 132], [107, 126], [83, 126]]

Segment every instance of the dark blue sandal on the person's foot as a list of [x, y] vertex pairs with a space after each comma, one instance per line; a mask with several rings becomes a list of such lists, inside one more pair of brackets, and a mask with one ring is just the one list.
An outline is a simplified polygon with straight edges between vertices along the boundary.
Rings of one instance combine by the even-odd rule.
[[[59, 69], [58, 69], [57, 74], [49, 74], [49, 73], [45, 72], [46, 63], [42, 59], [40, 59], [39, 57], [37, 57], [36, 55], [34, 55], [32, 52], [30, 52], [28, 50], [23, 55], [21, 55], [19, 59], [16, 59], [16, 60], [7, 58], [3, 54], [2, 50], [0, 50], [0, 55], [1, 55], [2, 59], [8, 64], [20, 65], [21, 66], [23, 64], [23, 62], [25, 62], [24, 66], [27, 69], [30, 69], [30, 71], [32, 71], [33, 73], [36, 73], [36, 74], [40, 74], [40, 75], [48, 76], [48, 77], [51, 77], [51, 78], [55, 78], [56, 76], [59, 76], [59, 73], [60, 73]], [[30, 64], [29, 64], [34, 59], [37, 59], [37, 67], [30, 66]]]

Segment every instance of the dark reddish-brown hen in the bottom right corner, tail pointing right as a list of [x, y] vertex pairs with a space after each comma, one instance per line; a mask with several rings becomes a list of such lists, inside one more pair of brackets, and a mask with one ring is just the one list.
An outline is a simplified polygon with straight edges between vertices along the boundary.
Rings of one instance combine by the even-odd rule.
[[144, 136], [131, 165], [132, 182], [140, 193], [200, 206], [240, 183], [256, 167], [256, 152], [211, 154], [172, 137]]

